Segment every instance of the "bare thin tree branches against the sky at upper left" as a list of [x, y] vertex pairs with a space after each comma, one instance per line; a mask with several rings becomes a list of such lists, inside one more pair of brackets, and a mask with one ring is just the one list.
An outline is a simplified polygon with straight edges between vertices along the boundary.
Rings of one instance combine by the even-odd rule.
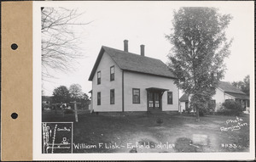
[[76, 59], [83, 56], [74, 25], [90, 22], [78, 23], [81, 14], [76, 9], [41, 8], [41, 14], [42, 76], [45, 81], [54, 76], [49, 71], [67, 72], [73, 69]]

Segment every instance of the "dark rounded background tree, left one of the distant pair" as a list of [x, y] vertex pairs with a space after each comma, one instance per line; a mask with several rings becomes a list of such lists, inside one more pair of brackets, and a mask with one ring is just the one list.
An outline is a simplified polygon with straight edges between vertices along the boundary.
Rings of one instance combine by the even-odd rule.
[[54, 103], [68, 103], [70, 101], [70, 94], [65, 86], [56, 87], [53, 91]]

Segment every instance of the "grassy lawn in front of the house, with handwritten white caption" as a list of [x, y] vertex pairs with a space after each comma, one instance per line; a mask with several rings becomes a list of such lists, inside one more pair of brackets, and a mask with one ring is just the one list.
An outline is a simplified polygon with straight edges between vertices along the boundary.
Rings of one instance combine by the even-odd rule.
[[[237, 120], [239, 123], [237, 123]], [[249, 115], [74, 115], [43, 113], [43, 122], [73, 121], [73, 153], [248, 152]]]

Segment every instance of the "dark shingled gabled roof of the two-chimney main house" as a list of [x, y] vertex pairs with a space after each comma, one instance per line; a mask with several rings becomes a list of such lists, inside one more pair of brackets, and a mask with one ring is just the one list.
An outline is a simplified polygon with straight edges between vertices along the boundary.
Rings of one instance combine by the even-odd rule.
[[176, 78], [175, 75], [172, 74], [171, 70], [169, 70], [168, 66], [160, 59], [148, 58], [146, 56], [128, 53], [112, 47], [102, 46], [102, 49], [96, 59], [96, 63], [90, 73], [89, 81], [92, 81], [104, 52], [108, 53], [121, 70], [130, 70], [149, 75]]

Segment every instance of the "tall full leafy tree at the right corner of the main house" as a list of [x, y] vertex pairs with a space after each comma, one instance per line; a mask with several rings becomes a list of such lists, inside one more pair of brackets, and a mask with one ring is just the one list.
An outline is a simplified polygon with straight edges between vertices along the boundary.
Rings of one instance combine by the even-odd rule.
[[231, 44], [225, 29], [230, 20], [230, 14], [219, 14], [217, 8], [180, 8], [174, 12], [172, 33], [166, 36], [174, 45], [169, 66], [177, 76], [175, 83], [191, 96], [198, 121], [200, 109], [206, 109], [224, 77]]

